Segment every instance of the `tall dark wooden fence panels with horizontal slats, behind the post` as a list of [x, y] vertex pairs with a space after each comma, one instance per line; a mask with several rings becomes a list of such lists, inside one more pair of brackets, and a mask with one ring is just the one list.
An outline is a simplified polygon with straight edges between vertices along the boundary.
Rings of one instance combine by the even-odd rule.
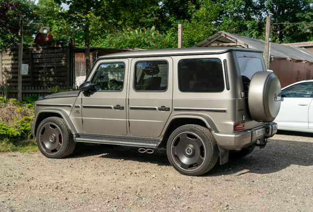
[[[29, 73], [22, 76], [24, 86], [73, 86], [70, 46], [64, 43], [23, 45], [23, 63]], [[0, 85], [18, 83], [18, 46], [9, 46], [0, 53]]]

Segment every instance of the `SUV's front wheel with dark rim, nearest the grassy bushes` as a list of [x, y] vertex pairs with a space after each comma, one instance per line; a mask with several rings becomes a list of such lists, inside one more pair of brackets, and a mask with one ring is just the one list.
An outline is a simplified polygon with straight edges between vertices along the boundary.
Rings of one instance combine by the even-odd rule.
[[37, 128], [36, 138], [40, 152], [51, 159], [69, 156], [76, 146], [66, 122], [59, 117], [44, 119]]

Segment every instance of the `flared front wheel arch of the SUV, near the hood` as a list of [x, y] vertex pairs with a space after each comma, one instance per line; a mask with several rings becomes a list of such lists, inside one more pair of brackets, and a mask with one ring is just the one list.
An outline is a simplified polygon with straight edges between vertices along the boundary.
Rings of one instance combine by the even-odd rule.
[[40, 110], [37, 114], [34, 134], [37, 133], [37, 128], [38, 128], [39, 124], [44, 119], [49, 118], [49, 117], [53, 117], [53, 116], [62, 118], [66, 122], [66, 125], [67, 125], [68, 129], [72, 132], [72, 134], [78, 133], [72, 120], [67, 115], [66, 111], [62, 111], [62, 109], [53, 109], [53, 110], [43, 109], [43, 110]]

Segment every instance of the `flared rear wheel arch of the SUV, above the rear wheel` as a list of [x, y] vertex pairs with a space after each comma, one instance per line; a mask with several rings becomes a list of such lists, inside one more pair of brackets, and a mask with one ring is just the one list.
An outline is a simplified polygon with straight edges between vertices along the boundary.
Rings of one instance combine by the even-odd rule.
[[211, 132], [219, 132], [217, 126], [213, 122], [212, 118], [206, 114], [189, 114], [189, 113], [180, 113], [174, 115], [165, 126], [165, 130], [162, 133], [162, 138], [160, 142], [157, 144], [156, 149], [166, 147], [167, 140], [170, 134], [177, 128], [187, 125], [187, 124], [195, 124], [200, 125], [202, 127], [208, 128]]

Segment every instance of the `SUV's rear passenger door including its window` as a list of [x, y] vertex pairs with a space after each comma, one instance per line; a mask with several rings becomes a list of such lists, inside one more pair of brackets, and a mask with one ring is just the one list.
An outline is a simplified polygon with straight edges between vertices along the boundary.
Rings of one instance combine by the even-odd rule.
[[172, 112], [173, 61], [170, 57], [132, 59], [129, 132], [158, 137]]

